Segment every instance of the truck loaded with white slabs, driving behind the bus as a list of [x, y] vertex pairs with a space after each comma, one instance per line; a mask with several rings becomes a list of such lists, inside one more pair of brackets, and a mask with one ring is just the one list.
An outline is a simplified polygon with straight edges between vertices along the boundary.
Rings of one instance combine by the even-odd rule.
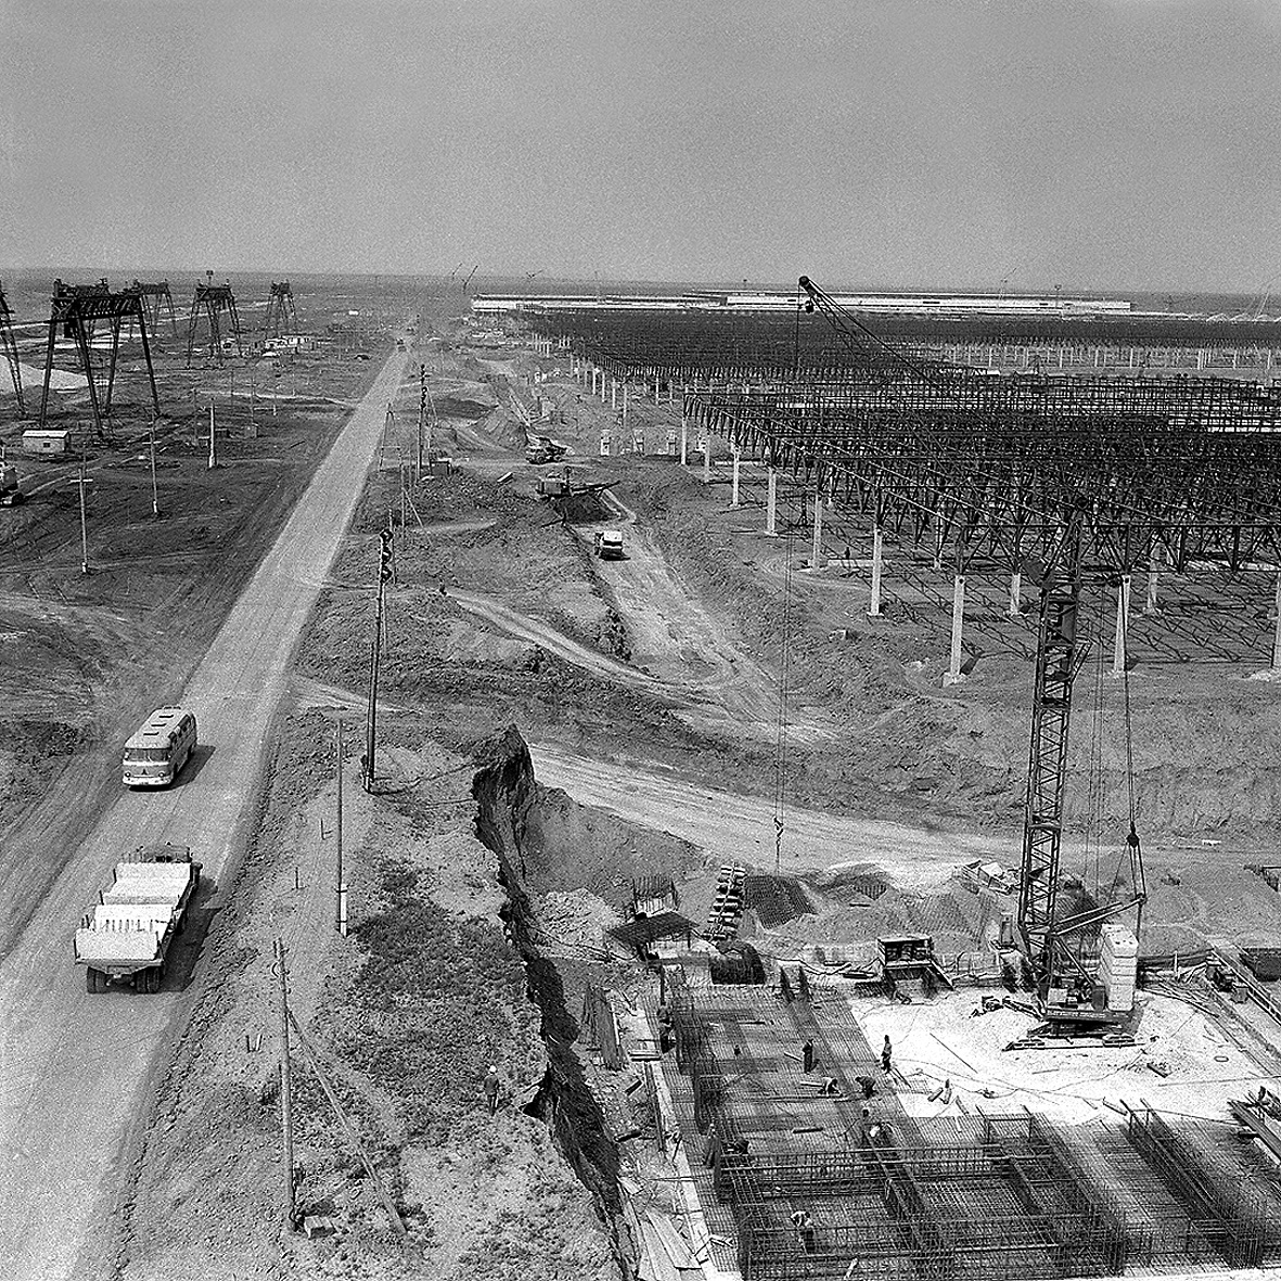
[[76, 963], [85, 966], [85, 989], [106, 991], [113, 984], [132, 983], [136, 991], [159, 991], [165, 959], [199, 885], [200, 863], [186, 845], [140, 845], [120, 858], [76, 930]]

